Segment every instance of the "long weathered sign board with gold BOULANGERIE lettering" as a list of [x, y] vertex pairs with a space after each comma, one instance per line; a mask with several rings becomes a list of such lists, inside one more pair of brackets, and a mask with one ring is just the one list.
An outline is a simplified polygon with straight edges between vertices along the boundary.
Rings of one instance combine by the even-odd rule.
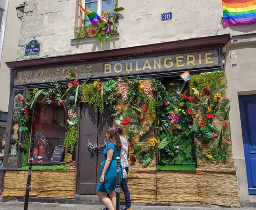
[[92, 66], [92, 71], [90, 72], [93, 75], [92, 78], [104, 78], [129, 74], [157, 75], [160, 73], [187, 71], [190, 69], [218, 68], [221, 65], [218, 50], [209, 50], [204, 52], [170, 54], [156, 57], [18, 71], [15, 83], [24, 84], [47, 80], [63, 80], [69, 76], [69, 67], [74, 70], [77, 78], [86, 78], [88, 76], [87, 66]]

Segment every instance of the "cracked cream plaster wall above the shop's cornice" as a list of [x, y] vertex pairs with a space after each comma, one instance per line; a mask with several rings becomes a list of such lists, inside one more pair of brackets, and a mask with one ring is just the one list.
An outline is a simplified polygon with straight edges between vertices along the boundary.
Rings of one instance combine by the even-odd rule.
[[[256, 32], [256, 26], [223, 28], [220, 0], [119, 0], [118, 6], [125, 8], [121, 12], [118, 36], [113, 36], [107, 44], [96, 38], [72, 44], [77, 0], [26, 0], [18, 59], [32, 57], [24, 56], [24, 48], [34, 38], [41, 43], [38, 57], [46, 57], [224, 33]], [[166, 12], [172, 12], [172, 20], [161, 21], [161, 14]]]

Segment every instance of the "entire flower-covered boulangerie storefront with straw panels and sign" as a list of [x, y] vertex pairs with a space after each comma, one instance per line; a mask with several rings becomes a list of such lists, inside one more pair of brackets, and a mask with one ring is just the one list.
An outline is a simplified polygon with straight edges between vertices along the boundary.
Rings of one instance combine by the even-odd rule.
[[2, 196], [24, 197], [31, 142], [30, 196], [95, 195], [106, 128], [119, 124], [130, 144], [132, 202], [239, 206], [222, 67], [229, 38], [7, 63]]

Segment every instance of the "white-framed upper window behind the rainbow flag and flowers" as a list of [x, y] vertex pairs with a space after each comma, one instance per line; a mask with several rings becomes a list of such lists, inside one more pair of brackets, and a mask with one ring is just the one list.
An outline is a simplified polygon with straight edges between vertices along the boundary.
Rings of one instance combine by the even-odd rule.
[[[97, 12], [99, 16], [103, 16], [103, 12], [108, 10], [114, 10], [114, 0], [83, 0], [84, 8], [86, 10], [90, 10], [92, 12]], [[91, 24], [88, 16], [83, 13], [83, 24], [84, 26], [88, 26]]]

